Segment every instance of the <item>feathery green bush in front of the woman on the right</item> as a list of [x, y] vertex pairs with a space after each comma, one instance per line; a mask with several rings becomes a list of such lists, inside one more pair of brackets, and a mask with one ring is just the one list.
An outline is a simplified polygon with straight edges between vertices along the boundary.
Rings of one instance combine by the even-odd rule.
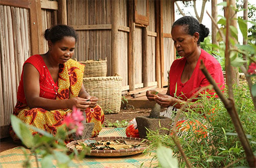
[[[249, 143], [256, 154], [256, 113], [253, 110], [252, 100], [249, 98], [248, 86], [240, 86], [235, 90], [235, 102], [243, 128], [249, 139]], [[232, 167], [248, 165], [244, 150], [241, 146], [234, 125], [229, 114], [226, 112], [222, 102], [216, 98], [203, 96], [198, 100], [204, 104], [202, 113], [187, 108], [188, 112], [183, 115], [190, 121], [200, 120], [207, 126], [205, 131], [207, 137], [198, 137], [192, 130], [179, 137], [181, 146], [192, 167]], [[214, 108], [214, 113], [210, 113]], [[180, 167], [186, 167], [184, 158], [170, 138], [169, 135], [159, 135], [158, 132], [149, 132], [148, 139], [151, 143], [151, 150], [157, 148], [160, 141], [164, 146], [174, 151], [178, 158]], [[239, 159], [239, 162], [236, 162]]]

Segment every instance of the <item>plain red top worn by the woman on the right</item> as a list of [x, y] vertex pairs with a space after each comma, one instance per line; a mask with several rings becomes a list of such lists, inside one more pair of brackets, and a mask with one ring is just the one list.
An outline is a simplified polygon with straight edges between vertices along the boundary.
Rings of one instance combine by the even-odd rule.
[[[193, 96], [202, 87], [210, 85], [210, 82], [205, 77], [204, 73], [200, 70], [200, 60], [203, 60], [208, 72], [211, 74], [220, 89], [224, 89], [224, 77], [219, 62], [209, 53], [201, 49], [201, 55], [196, 63], [195, 69], [188, 81], [181, 82], [181, 74], [183, 72], [186, 58], [176, 59], [169, 71], [169, 93], [170, 96], [187, 100]], [[177, 83], [177, 86], [176, 86]], [[214, 92], [210, 93], [211, 95]]]

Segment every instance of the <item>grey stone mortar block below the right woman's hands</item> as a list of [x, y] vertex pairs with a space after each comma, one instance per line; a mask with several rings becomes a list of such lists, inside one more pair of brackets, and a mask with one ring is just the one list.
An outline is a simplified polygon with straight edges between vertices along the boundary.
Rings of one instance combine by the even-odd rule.
[[159, 130], [159, 134], [168, 134], [169, 132], [168, 130], [160, 130], [160, 129], [161, 128], [170, 129], [170, 123], [172, 121], [172, 119], [164, 116], [160, 116], [160, 118], [150, 118], [149, 116], [138, 116], [138, 117], [135, 117], [135, 119], [137, 122], [139, 138], [147, 138], [148, 130], [151, 130], [151, 131]]

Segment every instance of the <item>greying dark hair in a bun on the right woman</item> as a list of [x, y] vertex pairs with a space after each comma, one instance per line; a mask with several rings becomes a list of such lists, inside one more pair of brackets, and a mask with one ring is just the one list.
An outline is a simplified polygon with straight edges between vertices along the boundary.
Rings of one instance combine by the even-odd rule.
[[185, 30], [190, 35], [194, 35], [195, 32], [198, 32], [199, 40], [197, 41], [197, 45], [200, 45], [200, 42], [203, 42], [205, 37], [209, 35], [209, 28], [205, 27], [205, 25], [203, 24], [200, 24], [198, 20], [196, 20], [192, 16], [184, 16], [176, 20], [172, 28], [177, 25], [186, 25]]

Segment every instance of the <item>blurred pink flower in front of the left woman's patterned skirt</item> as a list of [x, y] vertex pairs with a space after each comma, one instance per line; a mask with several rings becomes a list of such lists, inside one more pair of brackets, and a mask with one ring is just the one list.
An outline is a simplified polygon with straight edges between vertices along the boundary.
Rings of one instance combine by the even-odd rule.
[[76, 129], [77, 135], [82, 135], [84, 129], [83, 124], [81, 123], [82, 120], [84, 120], [82, 112], [75, 106], [73, 106], [73, 111], [68, 113], [65, 117], [67, 127], [71, 130]]

